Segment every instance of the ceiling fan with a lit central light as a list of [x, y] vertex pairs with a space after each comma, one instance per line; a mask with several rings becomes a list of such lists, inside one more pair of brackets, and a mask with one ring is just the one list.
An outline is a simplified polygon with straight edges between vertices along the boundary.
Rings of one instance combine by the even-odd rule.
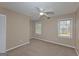
[[40, 17], [45, 16], [47, 19], [50, 19], [49, 15], [53, 15], [53, 11], [46, 11], [45, 9], [36, 7], [37, 11], [39, 12]]

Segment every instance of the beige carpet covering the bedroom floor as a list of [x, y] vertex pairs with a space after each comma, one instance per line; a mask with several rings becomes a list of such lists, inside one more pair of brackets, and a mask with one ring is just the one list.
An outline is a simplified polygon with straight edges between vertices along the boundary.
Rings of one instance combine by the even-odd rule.
[[72, 48], [32, 39], [30, 44], [7, 52], [8, 56], [77, 56]]

